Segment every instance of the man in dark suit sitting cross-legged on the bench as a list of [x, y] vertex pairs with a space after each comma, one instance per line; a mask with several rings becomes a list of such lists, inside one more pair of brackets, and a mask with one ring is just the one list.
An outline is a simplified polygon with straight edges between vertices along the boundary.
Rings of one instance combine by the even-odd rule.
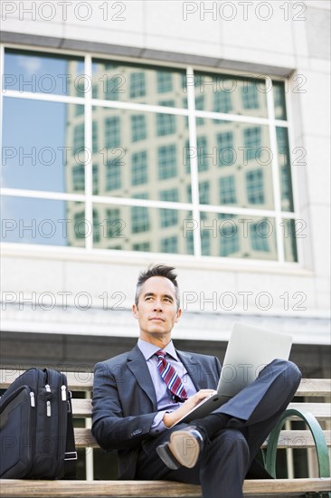
[[201, 484], [203, 498], [241, 498], [248, 474], [269, 476], [255, 456], [298, 388], [297, 366], [275, 359], [212, 414], [174, 426], [214, 392], [221, 364], [175, 349], [181, 309], [174, 268], [140, 273], [132, 310], [136, 347], [95, 367], [93, 436], [118, 450], [121, 479]]

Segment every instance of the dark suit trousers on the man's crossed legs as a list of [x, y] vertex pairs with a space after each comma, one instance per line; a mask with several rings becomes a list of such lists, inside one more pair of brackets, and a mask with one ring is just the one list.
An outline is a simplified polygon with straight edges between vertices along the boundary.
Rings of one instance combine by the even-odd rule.
[[[156, 455], [156, 447], [170, 434], [188, 424], [178, 424], [160, 436], [143, 442], [137, 462], [136, 479], [161, 479], [201, 484], [203, 498], [241, 498], [242, 484], [260, 446], [286, 409], [300, 382], [298, 367], [275, 359], [259, 377], [207, 417], [195, 420], [205, 435], [203, 449], [194, 468], [171, 470]], [[239, 426], [227, 428], [224, 417], [239, 419]], [[265, 475], [268, 474], [265, 471]]]

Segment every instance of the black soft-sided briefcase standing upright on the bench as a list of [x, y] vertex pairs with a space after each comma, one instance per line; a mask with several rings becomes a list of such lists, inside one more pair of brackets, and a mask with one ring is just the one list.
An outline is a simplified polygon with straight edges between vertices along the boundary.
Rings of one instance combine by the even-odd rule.
[[71, 393], [66, 376], [29, 369], [0, 398], [0, 476], [73, 478], [76, 471]]

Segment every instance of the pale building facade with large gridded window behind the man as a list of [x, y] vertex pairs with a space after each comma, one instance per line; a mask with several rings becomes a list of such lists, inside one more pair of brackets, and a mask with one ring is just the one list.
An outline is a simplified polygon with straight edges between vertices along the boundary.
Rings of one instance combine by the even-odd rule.
[[168, 263], [178, 345], [222, 360], [247, 321], [328, 377], [328, 2], [1, 16], [3, 364], [90, 370], [127, 350], [137, 274]]

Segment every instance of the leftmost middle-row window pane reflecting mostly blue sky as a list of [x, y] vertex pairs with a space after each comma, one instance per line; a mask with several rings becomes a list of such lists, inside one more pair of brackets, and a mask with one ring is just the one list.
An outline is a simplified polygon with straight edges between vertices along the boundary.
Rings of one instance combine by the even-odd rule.
[[[80, 190], [73, 185], [71, 172], [86, 159], [84, 122], [75, 116], [76, 107], [4, 98], [3, 187], [52, 192]], [[71, 128], [68, 123], [72, 123]]]

